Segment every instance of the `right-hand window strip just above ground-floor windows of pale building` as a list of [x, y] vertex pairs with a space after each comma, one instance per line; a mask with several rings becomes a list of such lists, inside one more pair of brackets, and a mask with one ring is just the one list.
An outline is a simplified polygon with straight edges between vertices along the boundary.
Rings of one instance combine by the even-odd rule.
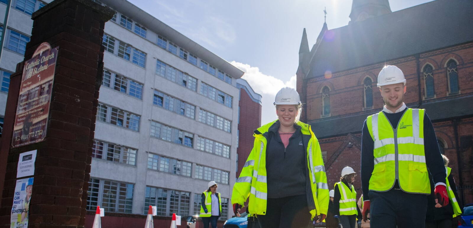
[[230, 173], [227, 171], [196, 164], [194, 165], [194, 175], [192, 175], [192, 166], [191, 162], [163, 157], [153, 153], [148, 154], [148, 168], [151, 170], [229, 184], [228, 177]]

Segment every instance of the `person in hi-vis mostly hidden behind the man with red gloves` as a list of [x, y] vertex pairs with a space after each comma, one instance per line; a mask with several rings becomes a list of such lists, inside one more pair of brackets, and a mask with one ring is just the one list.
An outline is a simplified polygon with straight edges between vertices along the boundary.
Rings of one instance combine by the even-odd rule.
[[429, 196], [429, 202], [427, 203], [427, 216], [425, 217], [426, 228], [451, 228], [452, 220], [462, 214], [462, 210], [456, 199], [458, 198], [456, 193], [455, 179], [451, 174], [452, 169], [448, 167], [448, 158], [442, 154], [445, 164], [445, 173], [447, 174], [447, 193], [450, 203], [446, 207], [440, 206], [434, 202], [432, 195]]

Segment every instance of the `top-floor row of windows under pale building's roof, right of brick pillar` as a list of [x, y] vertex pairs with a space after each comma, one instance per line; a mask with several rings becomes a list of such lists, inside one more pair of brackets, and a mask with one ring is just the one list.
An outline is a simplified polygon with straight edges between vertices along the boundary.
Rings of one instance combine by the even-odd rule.
[[[112, 21], [115, 23], [123, 26], [124, 28], [136, 33], [137, 35], [142, 36], [143, 38], [146, 38], [146, 33], [147, 29], [144, 26], [141, 26], [140, 24], [133, 22], [131, 18], [126, 17], [123, 14], [120, 14], [120, 20], [117, 20], [118, 18], [118, 13], [115, 13], [114, 17], [112, 18]], [[223, 80], [227, 82], [228, 84], [232, 84], [232, 77], [228, 75], [227, 73], [223, 72], [222, 70], [217, 70], [214, 66], [210, 65], [208, 62], [200, 59], [199, 65], [198, 63], [198, 57], [195, 56], [194, 54], [184, 50], [183, 48], [177, 46], [176, 44], [173, 44], [171, 41], [167, 40], [161, 35], [158, 35], [158, 40], [156, 44], [167, 50], [170, 53], [173, 53], [177, 56], [179, 56], [181, 59], [188, 61], [189, 63], [193, 64], [194, 66], [197, 66], [201, 68], [202, 70], [210, 73], [211, 75], [217, 77], [220, 80]], [[178, 52], [179, 51], [179, 52]]]

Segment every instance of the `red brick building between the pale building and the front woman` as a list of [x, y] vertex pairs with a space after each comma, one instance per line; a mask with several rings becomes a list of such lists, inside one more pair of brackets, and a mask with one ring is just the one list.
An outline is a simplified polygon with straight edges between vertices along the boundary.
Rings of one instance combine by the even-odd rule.
[[[240, 123], [238, 130], [240, 131], [238, 148], [238, 171], [236, 177], [240, 176], [241, 169], [245, 165], [246, 158], [253, 149], [253, 131], [261, 126], [261, 104], [254, 102], [246, 93], [245, 89], [240, 88]], [[276, 115], [276, 114], [275, 114]]]

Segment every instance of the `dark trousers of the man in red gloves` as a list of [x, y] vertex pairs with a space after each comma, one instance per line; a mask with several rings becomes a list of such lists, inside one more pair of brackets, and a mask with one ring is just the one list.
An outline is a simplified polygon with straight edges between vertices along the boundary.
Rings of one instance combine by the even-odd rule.
[[427, 195], [391, 189], [368, 192], [372, 228], [425, 228]]

